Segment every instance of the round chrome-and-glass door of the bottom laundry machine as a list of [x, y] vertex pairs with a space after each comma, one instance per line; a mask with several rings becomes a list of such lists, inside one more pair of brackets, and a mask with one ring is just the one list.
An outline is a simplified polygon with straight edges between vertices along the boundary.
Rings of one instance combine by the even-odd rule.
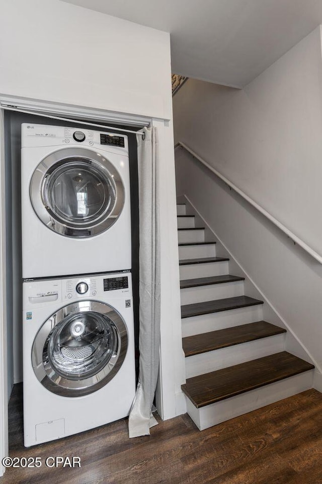
[[126, 325], [114, 308], [78, 301], [54, 313], [39, 329], [32, 365], [49, 391], [67, 397], [87, 395], [116, 375], [127, 345]]

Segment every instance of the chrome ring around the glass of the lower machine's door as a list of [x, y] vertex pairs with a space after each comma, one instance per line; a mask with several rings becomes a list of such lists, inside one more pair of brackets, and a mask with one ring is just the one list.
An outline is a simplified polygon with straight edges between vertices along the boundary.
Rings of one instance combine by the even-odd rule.
[[[46, 358], [48, 335], [67, 315], [96, 312], [111, 319], [118, 338], [117, 352], [98, 373], [83, 379], [69, 379], [57, 373]], [[99, 301], [77, 301], [53, 313], [40, 327], [32, 345], [32, 367], [39, 382], [50, 392], [61, 396], [78, 397], [93, 393], [105, 386], [121, 368], [128, 347], [125, 322], [115, 308]], [[45, 361], [44, 361], [45, 359]]]

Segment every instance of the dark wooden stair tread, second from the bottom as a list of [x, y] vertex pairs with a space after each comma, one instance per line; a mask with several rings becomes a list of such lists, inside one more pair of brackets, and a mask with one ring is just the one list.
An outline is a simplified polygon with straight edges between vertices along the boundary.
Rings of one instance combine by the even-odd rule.
[[267, 321], [257, 321], [256, 323], [186, 336], [182, 338], [182, 348], [185, 356], [189, 357], [281, 333], [286, 333], [286, 329]]

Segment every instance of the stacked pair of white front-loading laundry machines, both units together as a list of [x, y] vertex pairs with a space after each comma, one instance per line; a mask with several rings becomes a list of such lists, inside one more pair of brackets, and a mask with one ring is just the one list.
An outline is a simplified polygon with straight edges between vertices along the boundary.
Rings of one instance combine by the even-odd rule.
[[127, 136], [22, 124], [24, 442], [126, 417], [135, 395]]

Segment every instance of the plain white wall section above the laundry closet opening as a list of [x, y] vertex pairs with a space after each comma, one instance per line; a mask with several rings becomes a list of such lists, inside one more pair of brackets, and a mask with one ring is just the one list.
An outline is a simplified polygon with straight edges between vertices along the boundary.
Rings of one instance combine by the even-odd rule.
[[171, 118], [168, 33], [58, 0], [0, 4], [0, 93]]

